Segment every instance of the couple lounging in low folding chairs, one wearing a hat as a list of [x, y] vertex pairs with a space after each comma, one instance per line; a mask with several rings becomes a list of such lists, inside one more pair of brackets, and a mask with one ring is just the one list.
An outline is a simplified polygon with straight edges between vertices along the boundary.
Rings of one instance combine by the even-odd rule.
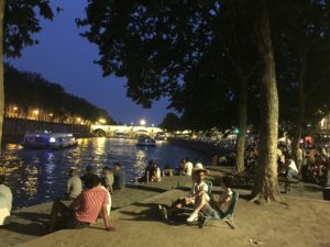
[[162, 218], [167, 221], [175, 212], [186, 205], [194, 205], [194, 212], [187, 218], [187, 222], [194, 222], [198, 220], [198, 213], [202, 212], [206, 216], [212, 218], [220, 218], [221, 214], [227, 211], [228, 204], [232, 198], [231, 180], [229, 177], [224, 177], [221, 181], [222, 193], [219, 201], [210, 204], [210, 197], [208, 195], [208, 184], [205, 182], [205, 178], [208, 175], [208, 170], [205, 168], [198, 169], [195, 172], [196, 182], [191, 193], [188, 197], [176, 200], [168, 209], [160, 205], [160, 212]]

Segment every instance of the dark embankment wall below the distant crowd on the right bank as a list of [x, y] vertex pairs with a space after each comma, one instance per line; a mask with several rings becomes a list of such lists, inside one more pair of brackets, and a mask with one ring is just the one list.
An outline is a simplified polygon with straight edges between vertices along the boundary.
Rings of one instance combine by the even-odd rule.
[[194, 139], [183, 139], [183, 138], [168, 138], [168, 143], [188, 147], [191, 149], [200, 150], [205, 154], [210, 156], [213, 155], [223, 155], [233, 150], [224, 149], [223, 147], [217, 146], [213, 143], [209, 142], [201, 142], [201, 141], [194, 141]]

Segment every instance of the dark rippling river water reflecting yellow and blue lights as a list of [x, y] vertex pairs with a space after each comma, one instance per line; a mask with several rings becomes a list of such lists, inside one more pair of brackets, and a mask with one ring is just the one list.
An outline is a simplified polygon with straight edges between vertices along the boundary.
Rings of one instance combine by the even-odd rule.
[[97, 173], [103, 166], [113, 167], [119, 161], [127, 171], [127, 180], [144, 172], [146, 162], [153, 159], [160, 167], [168, 164], [175, 168], [180, 158], [197, 158], [208, 164], [210, 157], [200, 151], [166, 142], [156, 147], [136, 146], [135, 139], [86, 138], [79, 145], [58, 150], [24, 149], [19, 144], [7, 144], [0, 157], [0, 173], [7, 176], [7, 183], [12, 189], [13, 209], [52, 201], [65, 192], [68, 171], [78, 168], [82, 175], [91, 165]]

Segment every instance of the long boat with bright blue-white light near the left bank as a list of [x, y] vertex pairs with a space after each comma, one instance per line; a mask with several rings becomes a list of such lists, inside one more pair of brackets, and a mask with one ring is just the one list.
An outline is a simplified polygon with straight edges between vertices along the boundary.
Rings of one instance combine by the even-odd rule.
[[78, 141], [72, 133], [51, 133], [45, 131], [25, 133], [21, 144], [25, 148], [58, 149], [76, 146]]

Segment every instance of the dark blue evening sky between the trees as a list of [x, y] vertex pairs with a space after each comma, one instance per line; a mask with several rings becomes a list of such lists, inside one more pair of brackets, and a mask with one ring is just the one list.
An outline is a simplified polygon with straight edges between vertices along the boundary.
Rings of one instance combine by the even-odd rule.
[[118, 122], [139, 123], [145, 119], [147, 125], [160, 124], [167, 113], [165, 99], [155, 102], [150, 110], [143, 109], [125, 97], [125, 79], [102, 78], [101, 68], [94, 65], [98, 49], [80, 37], [76, 18], [85, 16], [87, 0], [52, 0], [63, 11], [52, 22], [42, 21], [43, 30], [36, 34], [38, 45], [26, 47], [21, 58], [8, 59], [15, 68], [41, 74], [52, 82], [61, 83], [65, 90], [103, 108]]

